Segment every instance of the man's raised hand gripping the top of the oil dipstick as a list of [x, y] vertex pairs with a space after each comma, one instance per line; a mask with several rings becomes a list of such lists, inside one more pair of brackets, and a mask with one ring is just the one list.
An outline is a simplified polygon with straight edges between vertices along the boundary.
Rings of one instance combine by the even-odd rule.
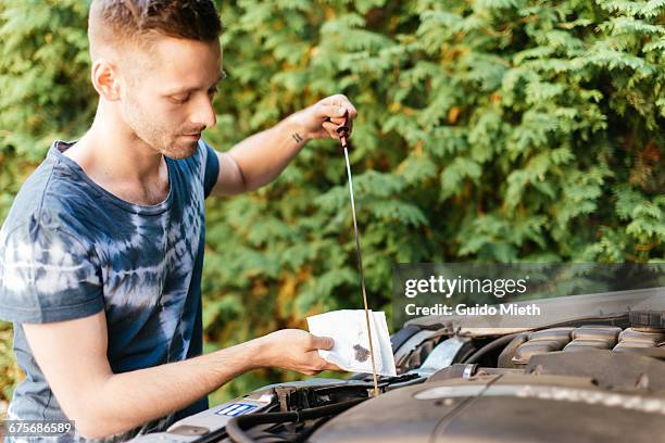
[[305, 140], [317, 138], [338, 139], [337, 128], [344, 123], [346, 113], [349, 114], [347, 126], [349, 127], [349, 135], [351, 135], [353, 119], [357, 115], [357, 111], [349, 99], [341, 93], [326, 97], [291, 115], [289, 119], [300, 128], [299, 131], [302, 132], [300, 136]]

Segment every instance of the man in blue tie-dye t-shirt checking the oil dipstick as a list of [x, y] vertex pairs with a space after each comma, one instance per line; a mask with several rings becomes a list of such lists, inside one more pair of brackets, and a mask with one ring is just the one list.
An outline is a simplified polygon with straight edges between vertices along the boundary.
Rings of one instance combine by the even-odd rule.
[[269, 182], [356, 115], [334, 96], [215, 152], [200, 137], [215, 125], [219, 33], [211, 1], [92, 2], [95, 121], [53, 143], [0, 231], [0, 317], [27, 374], [10, 419], [125, 440], [205, 409], [247, 370], [336, 368], [316, 352], [331, 339], [301, 330], [200, 355], [204, 198]]

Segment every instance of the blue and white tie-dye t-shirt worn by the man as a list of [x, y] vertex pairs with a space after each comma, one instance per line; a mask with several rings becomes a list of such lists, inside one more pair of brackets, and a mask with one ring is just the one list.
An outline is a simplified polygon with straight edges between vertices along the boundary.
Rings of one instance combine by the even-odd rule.
[[[53, 143], [0, 230], [0, 318], [14, 322], [14, 352], [27, 375], [14, 392], [9, 418], [65, 418], [22, 324], [103, 311], [115, 374], [202, 352], [203, 200], [217, 179], [214, 151], [201, 141], [189, 159], [165, 159], [168, 195], [141, 206], [95, 183], [62, 153], [70, 145]], [[164, 428], [206, 407], [204, 397], [133, 433]]]

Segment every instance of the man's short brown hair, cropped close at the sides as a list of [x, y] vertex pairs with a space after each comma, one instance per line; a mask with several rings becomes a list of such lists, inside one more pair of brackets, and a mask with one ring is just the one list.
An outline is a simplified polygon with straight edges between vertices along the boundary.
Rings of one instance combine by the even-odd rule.
[[212, 0], [93, 0], [88, 20], [91, 51], [152, 34], [212, 41], [222, 29]]

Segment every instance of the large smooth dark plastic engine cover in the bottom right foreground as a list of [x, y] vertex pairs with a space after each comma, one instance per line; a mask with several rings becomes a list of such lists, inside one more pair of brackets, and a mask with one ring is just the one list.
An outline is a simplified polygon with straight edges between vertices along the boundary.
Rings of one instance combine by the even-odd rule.
[[582, 378], [510, 374], [388, 392], [331, 419], [310, 441], [653, 443], [657, 435], [665, 435], [663, 394], [610, 392]]

